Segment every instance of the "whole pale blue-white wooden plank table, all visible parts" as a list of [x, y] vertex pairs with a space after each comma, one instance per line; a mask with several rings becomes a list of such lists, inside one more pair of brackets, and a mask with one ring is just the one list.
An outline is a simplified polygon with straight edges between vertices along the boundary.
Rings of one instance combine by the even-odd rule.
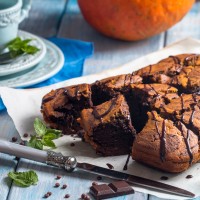
[[[34, 0], [29, 18], [20, 25], [20, 29], [42, 37], [57, 36], [93, 42], [94, 56], [84, 65], [83, 75], [87, 75], [117, 67], [186, 37], [200, 39], [199, 26], [200, 2], [197, 2], [189, 14], [167, 32], [143, 41], [123, 42], [106, 38], [93, 30], [82, 18], [76, 0]], [[12, 120], [6, 111], [0, 112], [0, 137], [11, 140], [13, 136], [17, 137], [18, 133]], [[39, 176], [37, 186], [20, 188], [6, 178], [10, 171], [27, 169], [37, 172]], [[56, 175], [61, 175], [62, 178], [55, 180]], [[96, 181], [96, 175], [66, 174], [64, 171], [40, 163], [25, 159], [17, 160], [13, 156], [0, 153], [0, 200], [39, 200], [43, 199], [44, 194], [49, 191], [52, 192], [49, 200], [64, 199], [65, 194], [70, 194], [70, 199], [79, 199], [82, 193], [89, 191], [93, 181]], [[100, 182], [104, 181], [111, 180], [103, 179]], [[66, 183], [67, 189], [54, 188], [56, 182], [61, 185]], [[158, 198], [136, 192], [115, 199], [156, 200]]]

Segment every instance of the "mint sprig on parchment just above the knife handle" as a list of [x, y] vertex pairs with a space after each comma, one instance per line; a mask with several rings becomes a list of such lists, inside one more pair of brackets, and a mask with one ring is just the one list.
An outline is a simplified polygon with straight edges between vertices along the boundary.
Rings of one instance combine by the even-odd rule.
[[42, 150], [44, 146], [56, 148], [53, 140], [59, 138], [62, 131], [47, 128], [47, 126], [39, 118], [35, 118], [34, 120], [34, 129], [36, 134], [31, 136], [27, 144], [29, 147], [40, 150]]

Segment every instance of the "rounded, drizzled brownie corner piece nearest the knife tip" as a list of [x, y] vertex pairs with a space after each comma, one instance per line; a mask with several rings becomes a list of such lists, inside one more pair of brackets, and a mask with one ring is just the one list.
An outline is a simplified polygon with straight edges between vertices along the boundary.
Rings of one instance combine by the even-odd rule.
[[199, 160], [198, 137], [181, 122], [148, 113], [148, 122], [133, 142], [132, 158], [149, 166], [182, 172]]

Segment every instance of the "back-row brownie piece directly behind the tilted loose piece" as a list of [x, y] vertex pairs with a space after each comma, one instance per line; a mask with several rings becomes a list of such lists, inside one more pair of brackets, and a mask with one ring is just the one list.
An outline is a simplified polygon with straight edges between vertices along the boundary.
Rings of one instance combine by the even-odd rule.
[[142, 78], [134, 74], [123, 74], [105, 78], [92, 84], [92, 101], [99, 105], [116, 97], [119, 93], [126, 94], [130, 84], [142, 83]]

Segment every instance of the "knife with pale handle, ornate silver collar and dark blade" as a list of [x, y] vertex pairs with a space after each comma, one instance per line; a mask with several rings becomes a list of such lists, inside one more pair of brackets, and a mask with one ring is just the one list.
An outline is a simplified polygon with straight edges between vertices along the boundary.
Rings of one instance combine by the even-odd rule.
[[72, 172], [74, 171], [74, 169], [83, 170], [93, 174], [103, 175], [112, 179], [124, 180], [131, 185], [140, 186], [151, 190], [190, 198], [195, 196], [193, 193], [187, 190], [158, 181], [153, 181], [139, 176], [118, 172], [115, 170], [95, 166], [89, 163], [79, 163], [73, 156], [63, 156], [61, 153], [56, 153], [53, 151], [41, 151], [27, 146], [22, 146], [0, 140], [0, 152], [11, 154], [20, 158], [43, 162], [59, 168], [64, 168], [68, 172]]

